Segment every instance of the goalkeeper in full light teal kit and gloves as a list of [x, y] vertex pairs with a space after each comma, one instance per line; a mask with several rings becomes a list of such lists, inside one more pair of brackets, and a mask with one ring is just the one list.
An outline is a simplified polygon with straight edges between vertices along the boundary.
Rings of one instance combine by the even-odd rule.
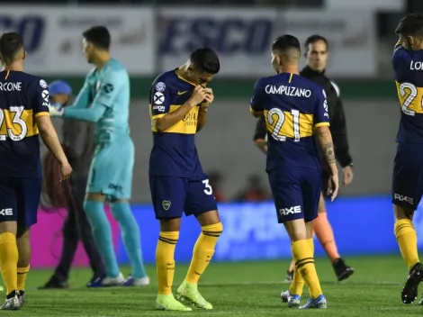
[[[139, 227], [130, 210], [134, 146], [130, 139], [130, 78], [125, 68], [109, 53], [111, 36], [103, 26], [83, 33], [88, 63], [95, 68], [85, 79], [75, 104], [64, 109], [50, 107], [52, 115], [95, 122], [95, 152], [88, 177], [84, 209], [93, 228], [94, 240], [102, 254], [106, 276], [92, 286], [148, 285], [140, 249]], [[110, 202], [119, 222], [121, 237], [132, 274], [122, 276], [112, 243], [112, 230], [104, 213]]]

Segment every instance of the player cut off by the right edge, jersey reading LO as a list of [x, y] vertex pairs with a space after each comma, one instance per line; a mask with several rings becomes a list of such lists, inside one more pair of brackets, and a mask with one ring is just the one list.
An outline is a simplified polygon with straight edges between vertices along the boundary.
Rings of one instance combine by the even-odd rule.
[[392, 204], [395, 236], [410, 270], [401, 300], [413, 303], [423, 280], [423, 264], [419, 260], [417, 234], [412, 222], [423, 194], [423, 15], [405, 16], [395, 32], [400, 40], [395, 45], [392, 64], [401, 105], [401, 122], [392, 177]]

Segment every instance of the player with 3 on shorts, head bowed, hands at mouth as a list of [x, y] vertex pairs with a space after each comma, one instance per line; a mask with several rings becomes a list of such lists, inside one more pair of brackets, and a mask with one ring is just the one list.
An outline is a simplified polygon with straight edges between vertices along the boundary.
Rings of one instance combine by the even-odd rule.
[[213, 50], [194, 50], [184, 66], [161, 74], [150, 88], [154, 145], [149, 159], [149, 185], [160, 222], [156, 250], [159, 310], [192, 310], [172, 294], [175, 246], [183, 212], [196, 217], [202, 233], [193, 248], [184, 282], [177, 289], [177, 298], [205, 310], [212, 309], [211, 303], [198, 292], [197, 284], [211, 261], [223, 227], [194, 138], [207, 122], [213, 101], [211, 88], [206, 85], [219, 70], [220, 61]]

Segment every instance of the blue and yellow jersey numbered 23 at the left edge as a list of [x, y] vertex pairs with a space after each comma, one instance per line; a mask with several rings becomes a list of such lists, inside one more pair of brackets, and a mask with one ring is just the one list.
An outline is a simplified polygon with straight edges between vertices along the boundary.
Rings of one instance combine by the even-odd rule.
[[21, 71], [0, 72], [0, 177], [41, 177], [35, 118], [49, 115], [47, 83]]

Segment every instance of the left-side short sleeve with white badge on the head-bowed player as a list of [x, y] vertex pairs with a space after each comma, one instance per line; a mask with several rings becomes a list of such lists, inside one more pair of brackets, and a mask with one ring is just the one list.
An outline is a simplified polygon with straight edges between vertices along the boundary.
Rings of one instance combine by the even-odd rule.
[[151, 106], [151, 119], [162, 118], [170, 111], [171, 100], [170, 87], [159, 79], [151, 86], [149, 104]]

